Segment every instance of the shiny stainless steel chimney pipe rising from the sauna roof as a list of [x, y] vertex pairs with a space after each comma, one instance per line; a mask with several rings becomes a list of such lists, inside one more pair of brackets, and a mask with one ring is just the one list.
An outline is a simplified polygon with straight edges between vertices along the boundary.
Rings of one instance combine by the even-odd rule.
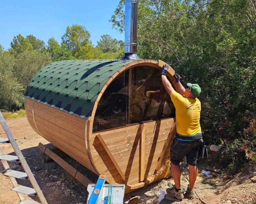
[[137, 56], [138, 1], [125, 0], [125, 41], [122, 60], [140, 59]]

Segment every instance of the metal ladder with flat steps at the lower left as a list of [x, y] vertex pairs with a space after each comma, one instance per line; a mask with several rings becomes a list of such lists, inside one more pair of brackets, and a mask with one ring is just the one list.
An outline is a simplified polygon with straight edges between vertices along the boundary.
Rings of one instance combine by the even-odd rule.
[[[6, 176], [9, 176], [9, 178], [11, 180], [11, 183], [13, 185], [13, 188], [11, 190], [17, 192], [17, 194], [20, 198], [19, 204], [40, 204], [38, 202], [25, 199], [23, 194], [26, 194], [26, 195], [29, 195], [29, 196], [37, 194], [38, 198], [41, 201], [41, 204], [47, 204], [47, 201], [45, 200], [44, 195], [43, 195], [40, 187], [38, 186], [38, 184], [35, 180], [35, 177], [32, 174], [32, 172], [31, 172], [31, 170], [30, 170], [30, 168], [29, 168], [29, 166], [28, 166], [28, 164], [27, 164], [27, 162], [26, 162], [26, 160], [25, 160], [17, 142], [15, 141], [8, 125], [6, 124], [6, 122], [4, 120], [4, 117], [3, 117], [1, 112], [0, 112], [0, 124], [3, 127], [3, 129], [4, 129], [4, 131], [7, 135], [7, 138], [8, 138], [8, 139], [0, 138], [0, 143], [10, 142], [15, 154], [17, 155], [17, 156], [12, 156], [12, 155], [8, 155], [8, 154], [4, 154], [1, 150], [1, 148], [0, 148], [0, 160], [2, 162], [2, 165], [3, 165], [4, 169], [5, 169], [4, 170], [5, 173], [3, 173], [3, 174], [6, 175]], [[12, 170], [11, 168], [13, 166], [10, 167], [8, 162], [7, 162], [7, 161], [16, 161], [18, 159], [20, 160], [20, 163], [21, 163], [21, 165], [22, 165], [22, 167], [23, 167], [23, 169], [25, 170], [26, 173], [21, 172], [21, 171]], [[16, 181], [16, 178], [18, 178], [18, 179], [28, 178], [30, 180], [33, 188], [29, 188], [29, 187], [26, 187], [26, 186], [19, 185]]]

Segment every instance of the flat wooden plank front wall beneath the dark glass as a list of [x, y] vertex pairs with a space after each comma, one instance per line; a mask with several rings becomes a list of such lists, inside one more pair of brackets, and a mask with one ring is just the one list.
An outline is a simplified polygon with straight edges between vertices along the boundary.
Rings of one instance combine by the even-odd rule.
[[[122, 172], [124, 172], [126, 184], [139, 183], [141, 182], [141, 177], [147, 179], [155, 173], [173, 123], [173, 118], [144, 123], [145, 157], [143, 171], [145, 172], [142, 176], [140, 176], [140, 138], [142, 124], [124, 126], [118, 129], [102, 131], [100, 133], [102, 139], [104, 139], [105, 144], [109, 148], [109, 151], [114, 159], [118, 161], [118, 165], [122, 169]], [[92, 138], [95, 138], [96, 134], [98, 133], [93, 133]], [[115, 183], [123, 182], [116, 167], [113, 165], [111, 159], [107, 156], [97, 139], [93, 140], [93, 148], [93, 158], [97, 169], [101, 169], [100, 172], [106, 175], [109, 180], [112, 180]], [[167, 148], [170, 148], [170, 146]], [[166, 151], [163, 157], [164, 158], [161, 158], [161, 161], [168, 159], [169, 151]]]

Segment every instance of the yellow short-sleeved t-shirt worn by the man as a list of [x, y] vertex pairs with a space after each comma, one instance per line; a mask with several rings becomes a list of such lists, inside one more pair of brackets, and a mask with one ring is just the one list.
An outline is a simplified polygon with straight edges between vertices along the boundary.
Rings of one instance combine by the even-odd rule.
[[184, 136], [201, 133], [199, 99], [184, 98], [173, 90], [171, 100], [176, 109], [177, 133]]

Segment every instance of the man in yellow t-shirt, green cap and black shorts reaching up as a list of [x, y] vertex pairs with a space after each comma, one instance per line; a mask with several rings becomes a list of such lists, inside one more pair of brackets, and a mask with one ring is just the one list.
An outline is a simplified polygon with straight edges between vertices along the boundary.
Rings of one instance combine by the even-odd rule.
[[161, 71], [161, 78], [176, 109], [177, 135], [173, 140], [170, 151], [171, 169], [175, 185], [172, 189], [167, 189], [166, 192], [178, 199], [184, 198], [181, 190], [181, 168], [179, 164], [186, 156], [189, 165], [189, 186], [185, 196], [192, 199], [195, 197], [194, 184], [198, 173], [197, 158], [203, 143], [199, 123], [201, 103], [197, 98], [201, 93], [201, 88], [197, 84], [188, 83], [185, 89], [180, 82], [180, 75], [174, 74], [180, 94], [177, 93], [166, 78], [167, 69], [168, 65], [165, 64]]

